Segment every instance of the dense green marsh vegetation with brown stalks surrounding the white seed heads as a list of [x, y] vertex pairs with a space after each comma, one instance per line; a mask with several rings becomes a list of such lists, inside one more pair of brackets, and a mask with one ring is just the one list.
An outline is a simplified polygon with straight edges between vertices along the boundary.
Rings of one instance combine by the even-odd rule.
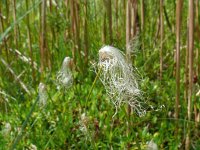
[[[0, 149], [148, 149], [150, 141], [158, 149], [188, 149], [187, 135], [189, 149], [200, 149], [196, 4], [195, 28], [189, 32], [194, 33], [194, 41], [187, 34], [188, 1], [182, 5], [179, 84], [174, 0], [161, 6], [151, 0], [1, 0]], [[193, 67], [188, 62], [188, 43], [194, 43]], [[133, 110], [129, 114], [123, 105], [113, 117], [115, 107], [93, 67], [104, 45], [126, 54], [131, 45], [145, 116]], [[73, 84], [58, 89], [57, 76], [66, 56], [73, 59]], [[43, 96], [38, 92], [40, 83], [46, 86]], [[180, 105], [176, 108], [177, 85]]]

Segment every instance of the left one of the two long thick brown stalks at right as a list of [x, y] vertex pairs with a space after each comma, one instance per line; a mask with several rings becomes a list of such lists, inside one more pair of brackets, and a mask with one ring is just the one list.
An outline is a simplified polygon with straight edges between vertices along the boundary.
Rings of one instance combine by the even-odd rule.
[[[177, 0], [176, 5], [176, 106], [175, 118], [179, 118], [179, 105], [180, 105], [180, 30], [181, 30], [181, 9], [182, 0]], [[176, 133], [178, 134], [178, 123]]]

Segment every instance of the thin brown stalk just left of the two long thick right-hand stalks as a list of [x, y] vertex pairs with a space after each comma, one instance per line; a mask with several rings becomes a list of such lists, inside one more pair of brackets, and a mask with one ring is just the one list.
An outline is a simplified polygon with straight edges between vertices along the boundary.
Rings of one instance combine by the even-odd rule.
[[163, 71], [163, 39], [164, 39], [164, 18], [163, 18], [163, 0], [160, 0], [160, 80], [162, 80]]

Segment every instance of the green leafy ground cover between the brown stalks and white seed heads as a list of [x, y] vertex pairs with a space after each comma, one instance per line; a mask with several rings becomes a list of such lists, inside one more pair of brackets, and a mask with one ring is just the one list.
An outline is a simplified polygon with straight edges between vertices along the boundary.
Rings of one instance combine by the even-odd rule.
[[[51, 69], [41, 73], [40, 68], [40, 11], [38, 4], [30, 3], [26, 9], [25, 1], [17, 2], [18, 48], [14, 43], [13, 16], [6, 12], [6, 2], [2, 1], [0, 7], [4, 19], [4, 30], [0, 36], [0, 59], [8, 65], [0, 63], [0, 149], [146, 149], [148, 143], [153, 141], [159, 149], [183, 149], [188, 125], [191, 137], [191, 149], [200, 149], [199, 123], [194, 117], [187, 120], [187, 102], [184, 98], [184, 57], [185, 49], [181, 53], [181, 93], [180, 117], [174, 119], [176, 82], [174, 76], [174, 47], [175, 33], [165, 28], [163, 48], [163, 78], [159, 80], [159, 37], [155, 37], [156, 11], [158, 5], [147, 2], [145, 18], [145, 33], [139, 34], [138, 50], [134, 51], [133, 65], [140, 73], [140, 88], [144, 92], [146, 101], [146, 115], [139, 117], [133, 111], [127, 116], [127, 106], [122, 106], [115, 113], [111, 99], [99, 79], [95, 81], [96, 74], [92, 62], [98, 61], [98, 50], [104, 45], [102, 42], [102, 24], [104, 20], [101, 1], [88, 2], [88, 43], [89, 63], [86, 66], [84, 56], [77, 56], [77, 64], [72, 71], [73, 85], [69, 89], [57, 90], [57, 73], [65, 56], [72, 57], [73, 38], [71, 20], [66, 16], [69, 8], [64, 2], [58, 2], [57, 7], [47, 6], [46, 41], [51, 54]], [[122, 4], [122, 2], [120, 2]], [[11, 3], [8, 4], [11, 7]], [[80, 51], [84, 51], [83, 16], [84, 4], [80, 2]], [[120, 8], [122, 5], [120, 5]], [[56, 9], [57, 8], [57, 9]], [[187, 5], [184, 5], [187, 9]], [[11, 8], [10, 8], [11, 9]], [[173, 5], [166, 2], [166, 9], [170, 21], [173, 23]], [[11, 11], [11, 10], [10, 10]], [[112, 10], [115, 12], [114, 9]], [[11, 11], [12, 12], [12, 11]], [[10, 12], [10, 13], [11, 13]], [[35, 79], [32, 77], [31, 65], [16, 55], [18, 49], [22, 56], [30, 56], [27, 37], [26, 16], [29, 14], [32, 35], [33, 58], [37, 64]], [[69, 14], [67, 14], [69, 15]], [[140, 15], [140, 14], [139, 14]], [[183, 13], [183, 28], [186, 27], [187, 11]], [[68, 19], [66, 19], [68, 18]], [[113, 17], [114, 18], [114, 17]], [[116, 21], [113, 19], [113, 42], [111, 45], [125, 52], [125, 25], [124, 11], [119, 9], [119, 30], [116, 30]], [[147, 20], [147, 19], [145, 19]], [[186, 29], [186, 28], [185, 28]], [[108, 32], [108, 31], [107, 31]], [[66, 35], [69, 33], [71, 35]], [[55, 35], [53, 35], [55, 34]], [[182, 32], [183, 47], [186, 43], [186, 31]], [[7, 39], [9, 57], [6, 58], [4, 39]], [[142, 43], [144, 47], [142, 48]], [[198, 43], [195, 43], [199, 47]], [[144, 55], [145, 54], [145, 55]], [[14, 71], [19, 80], [14, 77], [9, 68]], [[76, 69], [75, 69], [76, 68]], [[29, 90], [24, 90], [21, 83]], [[43, 82], [46, 85], [46, 105], [39, 105], [38, 86]], [[199, 83], [194, 84], [194, 93], [199, 89]], [[91, 91], [91, 95], [90, 95]], [[194, 94], [195, 95], [195, 94]], [[199, 109], [199, 97], [196, 97]], [[193, 114], [192, 114], [193, 115]], [[127, 132], [127, 124], [130, 130]], [[175, 134], [178, 123], [178, 134]]]

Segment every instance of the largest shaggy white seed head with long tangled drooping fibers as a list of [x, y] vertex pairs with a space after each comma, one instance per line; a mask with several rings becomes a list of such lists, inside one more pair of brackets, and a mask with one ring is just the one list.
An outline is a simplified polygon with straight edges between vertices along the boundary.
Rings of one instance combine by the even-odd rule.
[[98, 69], [101, 69], [100, 80], [116, 108], [115, 114], [124, 103], [130, 105], [139, 116], [146, 114], [138, 86], [139, 77], [119, 49], [112, 46], [101, 48]]

